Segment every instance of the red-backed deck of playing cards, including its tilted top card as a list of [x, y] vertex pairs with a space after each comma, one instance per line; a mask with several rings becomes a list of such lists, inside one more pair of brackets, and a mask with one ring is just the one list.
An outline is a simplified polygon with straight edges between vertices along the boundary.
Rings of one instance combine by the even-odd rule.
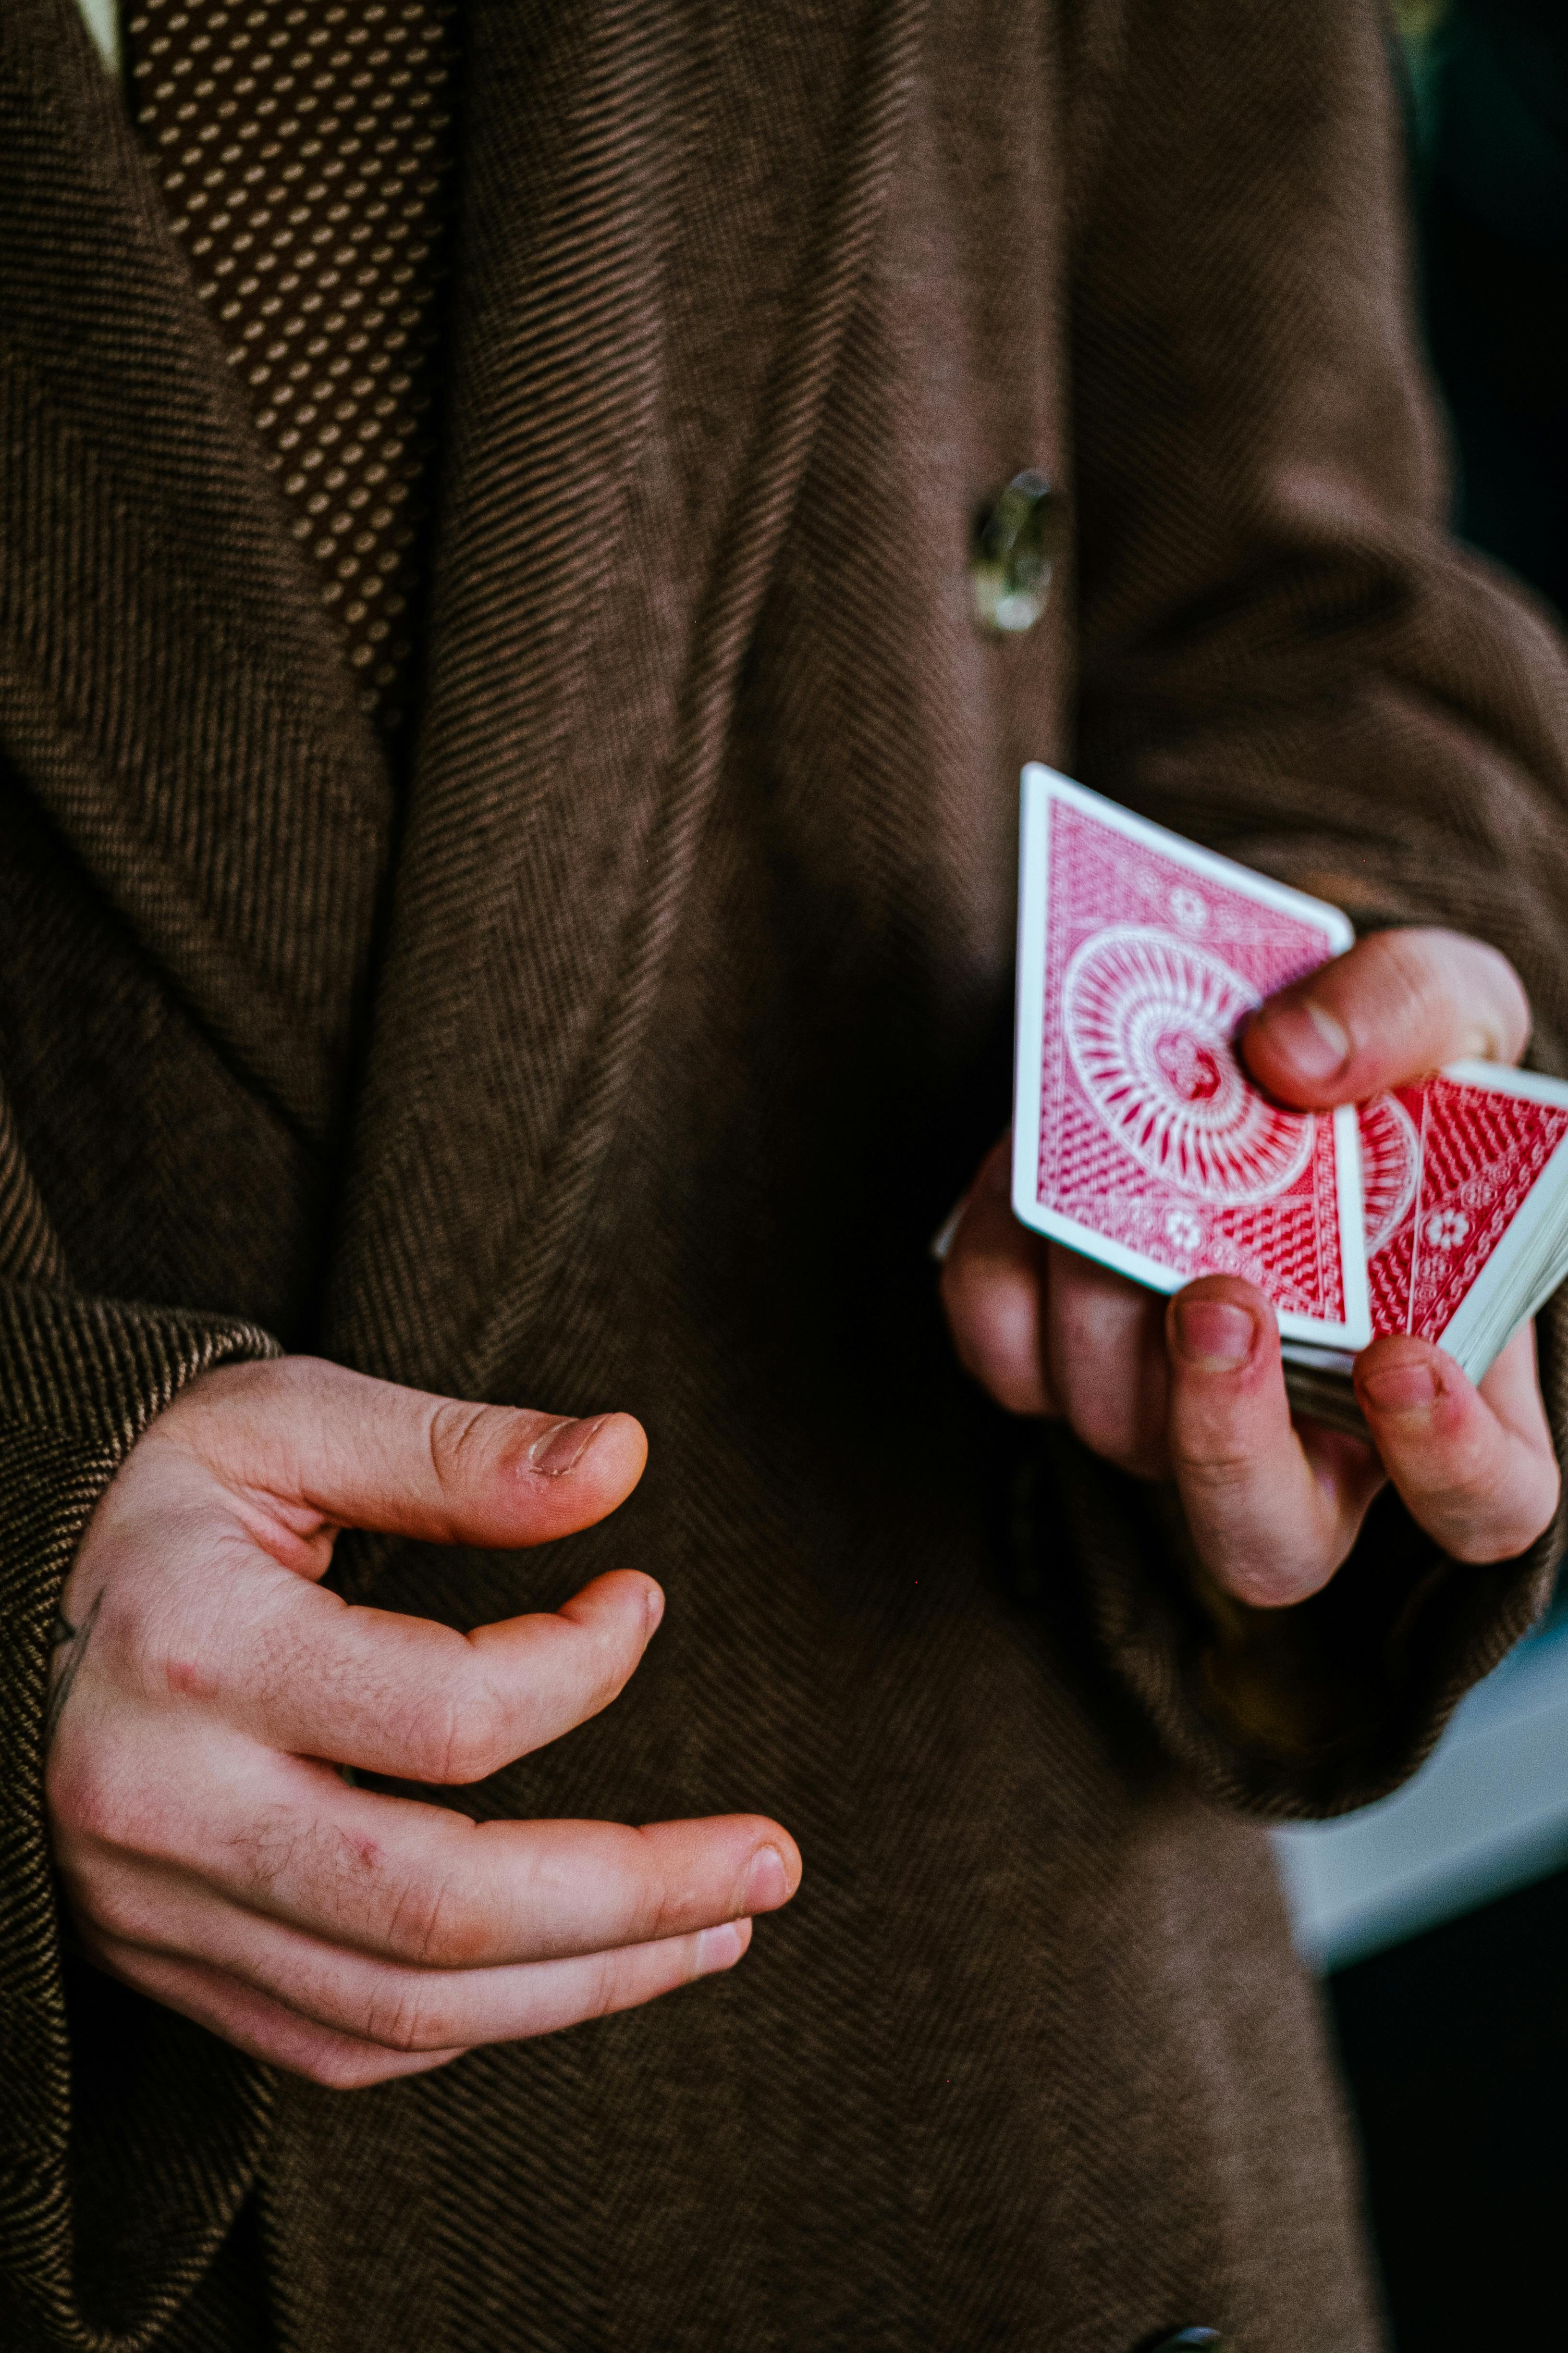
[[1272, 1101], [1237, 1038], [1352, 936], [1321, 899], [1023, 772], [1013, 1212], [1161, 1292], [1255, 1282], [1295, 1402], [1359, 1426], [1373, 1334], [1441, 1341], [1479, 1379], [1568, 1278], [1568, 1087], [1455, 1064], [1333, 1113]]

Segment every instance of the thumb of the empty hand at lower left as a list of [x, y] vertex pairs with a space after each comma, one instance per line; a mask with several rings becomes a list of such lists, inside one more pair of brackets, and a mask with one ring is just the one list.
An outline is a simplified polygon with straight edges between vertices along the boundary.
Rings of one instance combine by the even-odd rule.
[[310, 1355], [205, 1374], [143, 1447], [150, 1440], [195, 1454], [306, 1541], [322, 1527], [369, 1527], [484, 1546], [592, 1527], [625, 1501], [649, 1452], [630, 1414], [574, 1421], [468, 1405]]

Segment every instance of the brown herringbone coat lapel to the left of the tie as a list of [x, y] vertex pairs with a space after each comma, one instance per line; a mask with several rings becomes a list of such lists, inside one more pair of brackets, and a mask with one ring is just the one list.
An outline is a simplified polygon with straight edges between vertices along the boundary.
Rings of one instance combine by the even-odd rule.
[[320, 1139], [390, 788], [75, 0], [0, 9], [0, 751]]

